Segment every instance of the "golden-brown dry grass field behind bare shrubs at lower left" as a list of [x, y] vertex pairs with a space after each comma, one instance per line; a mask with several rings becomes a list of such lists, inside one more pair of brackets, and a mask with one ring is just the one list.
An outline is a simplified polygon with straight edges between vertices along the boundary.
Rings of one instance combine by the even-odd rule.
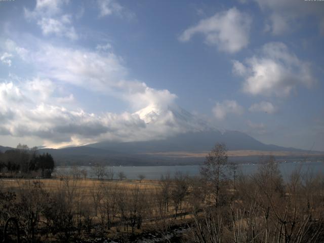
[[[66, 225], [69, 225], [69, 221], [65, 219], [64, 214], [71, 215], [73, 220], [70, 222], [70, 226], [74, 227], [74, 231], [78, 227], [82, 228], [80, 231], [83, 234], [82, 238], [93, 237], [89, 235], [98, 233], [109, 238], [119, 238], [130, 233], [138, 235], [143, 231], [152, 229], [152, 227], [156, 228], [156, 225], [166, 224], [165, 220], [170, 219], [172, 224], [177, 224], [177, 222], [189, 219], [190, 215], [182, 215], [174, 219], [175, 210], [171, 200], [170, 205], [168, 205], [168, 212], [161, 213], [161, 209], [157, 206], [157, 197], [160, 195], [161, 187], [160, 181], [154, 180], [96, 180], [73, 179], [72, 177], [0, 179], [0, 190], [15, 193], [17, 195], [16, 200], [19, 202], [18, 205], [24, 204], [23, 201], [25, 200], [26, 207], [30, 208], [31, 206], [33, 208], [37, 201], [42, 205], [52, 201], [54, 204], [50, 203], [52, 206], [46, 210], [58, 207], [57, 212], [62, 214], [59, 220], [64, 219], [63, 222]], [[43, 195], [41, 191], [48, 193], [49, 196], [41, 196]], [[30, 201], [27, 198], [22, 199], [26, 194], [27, 197], [30, 195]], [[159, 198], [163, 200], [162, 197]], [[61, 206], [60, 202], [62, 203]], [[182, 205], [184, 207], [184, 201]], [[61, 211], [61, 207], [63, 207], [63, 211]], [[180, 210], [178, 210], [179, 213]], [[18, 212], [19, 214], [20, 212]], [[51, 221], [41, 212], [39, 214], [39, 222]], [[55, 219], [56, 216], [53, 218]], [[79, 220], [83, 221], [80, 225]], [[162, 223], [161, 220], [164, 222]], [[89, 231], [87, 230], [88, 224], [91, 227]], [[37, 227], [46, 228], [46, 224], [39, 223]], [[64, 232], [64, 228], [67, 226], [55, 226], [54, 223], [52, 227], [58, 227]], [[103, 230], [105, 231], [104, 235]], [[47, 234], [46, 237], [43, 235], [41, 238], [49, 242], [58, 238], [60, 241], [64, 241], [67, 239], [66, 237], [71, 237], [69, 234], [70, 232], [60, 233], [60, 236]]]

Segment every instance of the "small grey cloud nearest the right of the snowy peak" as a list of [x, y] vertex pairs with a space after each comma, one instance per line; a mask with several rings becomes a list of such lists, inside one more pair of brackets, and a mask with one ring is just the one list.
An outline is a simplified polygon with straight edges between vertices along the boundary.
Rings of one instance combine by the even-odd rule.
[[213, 108], [215, 117], [219, 120], [224, 119], [227, 114], [242, 114], [244, 108], [237, 104], [235, 100], [225, 100], [222, 103], [217, 102]]

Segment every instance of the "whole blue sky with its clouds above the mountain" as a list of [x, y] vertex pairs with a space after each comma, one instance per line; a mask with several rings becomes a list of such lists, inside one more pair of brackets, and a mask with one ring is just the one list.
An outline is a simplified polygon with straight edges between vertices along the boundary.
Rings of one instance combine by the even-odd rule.
[[0, 1], [0, 20], [1, 145], [200, 130], [168, 111], [180, 106], [324, 151], [322, 1], [15, 0]]

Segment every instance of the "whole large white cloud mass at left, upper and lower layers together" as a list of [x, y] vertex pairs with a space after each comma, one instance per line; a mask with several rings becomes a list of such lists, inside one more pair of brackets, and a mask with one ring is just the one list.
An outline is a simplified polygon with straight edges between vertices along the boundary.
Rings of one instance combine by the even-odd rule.
[[[13, 50], [21, 48], [13, 41], [8, 43]], [[28, 49], [21, 57], [34, 69], [33, 77], [11, 75], [0, 83], [0, 135], [40, 138], [45, 145], [58, 147], [165, 138], [201, 127], [192, 120], [179, 122], [170, 111], [169, 106], [175, 106], [175, 94], [128, 79], [124, 61], [110, 49], [97, 52], [44, 43], [38, 46], [38, 50]], [[59, 86], [65, 84], [123, 99], [141, 112], [86, 112], [76, 106], [73, 94], [58, 96]], [[148, 123], [144, 117], [152, 112], [158, 118]]]

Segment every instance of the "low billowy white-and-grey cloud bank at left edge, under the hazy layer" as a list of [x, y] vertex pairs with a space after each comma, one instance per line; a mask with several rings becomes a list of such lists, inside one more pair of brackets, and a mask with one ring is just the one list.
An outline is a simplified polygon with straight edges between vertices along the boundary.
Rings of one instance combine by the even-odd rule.
[[0, 83], [0, 119], [5, 121], [0, 125], [0, 130], [3, 133], [14, 137], [35, 136], [52, 143], [68, 143], [72, 137], [78, 141], [93, 141], [107, 132], [119, 129], [135, 131], [145, 127], [144, 121], [137, 115], [95, 115], [80, 109], [68, 110], [63, 106], [39, 104], [43, 98], [24, 90], [25, 87]]

